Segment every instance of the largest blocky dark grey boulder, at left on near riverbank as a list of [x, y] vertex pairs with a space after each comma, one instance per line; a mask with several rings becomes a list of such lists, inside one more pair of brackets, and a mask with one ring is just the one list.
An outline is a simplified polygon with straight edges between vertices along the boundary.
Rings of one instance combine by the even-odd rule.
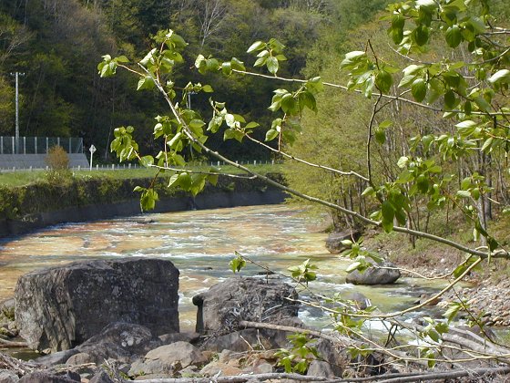
[[15, 317], [29, 347], [75, 347], [113, 322], [179, 332], [179, 270], [146, 258], [76, 262], [21, 276]]

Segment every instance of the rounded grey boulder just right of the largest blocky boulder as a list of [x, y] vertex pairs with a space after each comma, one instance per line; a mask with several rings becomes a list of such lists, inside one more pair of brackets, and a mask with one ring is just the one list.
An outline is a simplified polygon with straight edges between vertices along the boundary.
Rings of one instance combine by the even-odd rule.
[[240, 320], [278, 323], [298, 316], [298, 297], [291, 285], [275, 278], [229, 278], [195, 295], [199, 306], [197, 332], [208, 335], [228, 334], [238, 329]]

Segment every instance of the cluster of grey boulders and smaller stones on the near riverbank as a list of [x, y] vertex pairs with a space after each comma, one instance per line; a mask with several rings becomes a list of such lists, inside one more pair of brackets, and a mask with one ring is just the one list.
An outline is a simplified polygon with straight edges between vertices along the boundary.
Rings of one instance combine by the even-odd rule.
[[[19, 365], [0, 354], [0, 381], [281, 372], [274, 350], [289, 346], [288, 333], [242, 323], [304, 327], [296, 291], [278, 277], [233, 277], [196, 295], [193, 333], [179, 332], [178, 292], [179, 271], [167, 260], [95, 260], [26, 274], [2, 307], [2, 331], [19, 334], [43, 356]], [[309, 373], [338, 376], [340, 354], [323, 340], [317, 347], [325, 359], [313, 362]]]

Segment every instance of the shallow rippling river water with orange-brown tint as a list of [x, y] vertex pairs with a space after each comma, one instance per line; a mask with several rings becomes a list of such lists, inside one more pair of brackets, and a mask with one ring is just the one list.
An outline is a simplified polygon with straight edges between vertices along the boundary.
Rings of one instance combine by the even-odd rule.
[[[58, 225], [0, 243], [0, 301], [14, 295], [19, 275], [36, 268], [96, 258], [165, 258], [180, 271], [181, 329], [192, 330], [196, 307], [191, 298], [232, 276], [229, 262], [234, 252], [277, 272], [286, 272], [290, 265], [310, 258], [319, 266], [318, 279], [311, 284], [317, 293], [360, 292], [384, 311], [402, 308], [417, 296], [437, 289], [413, 278], [402, 278], [389, 286], [345, 284], [344, 269], [349, 261], [326, 251], [321, 225], [321, 220], [287, 205], [145, 214]], [[241, 274], [260, 271], [249, 264]], [[305, 323], [318, 327], [329, 323], [328, 316], [318, 309], [304, 307], [300, 316]]]

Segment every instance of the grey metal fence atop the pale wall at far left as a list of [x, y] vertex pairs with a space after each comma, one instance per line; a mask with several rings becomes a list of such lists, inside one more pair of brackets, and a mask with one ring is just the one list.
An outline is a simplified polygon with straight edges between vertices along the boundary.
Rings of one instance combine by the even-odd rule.
[[0, 154], [46, 154], [60, 146], [67, 153], [83, 153], [83, 139], [63, 137], [20, 137], [0, 136]]

